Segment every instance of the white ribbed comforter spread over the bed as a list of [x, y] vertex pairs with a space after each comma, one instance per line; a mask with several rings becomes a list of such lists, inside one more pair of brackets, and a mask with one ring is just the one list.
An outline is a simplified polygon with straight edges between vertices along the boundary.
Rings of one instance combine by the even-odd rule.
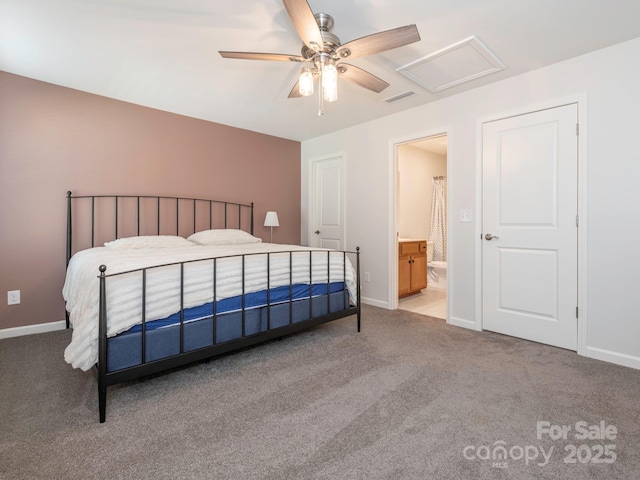
[[[309, 282], [309, 248], [295, 245], [255, 243], [231, 246], [194, 246], [172, 249], [114, 250], [97, 247], [76, 253], [69, 263], [62, 295], [73, 325], [71, 343], [64, 358], [74, 368], [90, 369], [98, 361], [99, 270], [106, 274], [163, 265], [171, 262], [242, 255], [254, 252], [287, 252], [293, 250], [293, 283]], [[313, 282], [327, 281], [327, 257], [330, 258], [330, 281], [343, 281], [345, 272], [342, 252], [313, 252]], [[347, 258], [347, 262], [349, 259]], [[184, 264], [184, 308], [195, 307], [213, 299], [213, 261]], [[241, 257], [219, 258], [216, 267], [216, 299], [242, 294]], [[289, 284], [289, 254], [270, 256], [270, 287]], [[267, 288], [267, 256], [245, 257], [245, 293]], [[355, 301], [355, 273], [347, 263], [346, 284]], [[180, 311], [180, 266], [157, 267], [147, 271], [146, 320], [165, 318]], [[107, 335], [115, 336], [142, 321], [142, 274], [140, 271], [108, 277]]]

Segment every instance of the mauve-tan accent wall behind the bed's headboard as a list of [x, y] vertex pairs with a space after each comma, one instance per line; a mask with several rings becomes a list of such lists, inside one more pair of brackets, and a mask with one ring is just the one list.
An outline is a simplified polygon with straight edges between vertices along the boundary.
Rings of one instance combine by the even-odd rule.
[[299, 142], [0, 72], [0, 329], [64, 319], [69, 190], [254, 202], [300, 243]]

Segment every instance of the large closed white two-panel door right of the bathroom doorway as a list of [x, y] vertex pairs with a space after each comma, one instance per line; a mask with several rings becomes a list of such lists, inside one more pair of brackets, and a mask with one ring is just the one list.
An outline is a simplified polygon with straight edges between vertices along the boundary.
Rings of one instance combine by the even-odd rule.
[[483, 125], [483, 328], [577, 348], [577, 104]]

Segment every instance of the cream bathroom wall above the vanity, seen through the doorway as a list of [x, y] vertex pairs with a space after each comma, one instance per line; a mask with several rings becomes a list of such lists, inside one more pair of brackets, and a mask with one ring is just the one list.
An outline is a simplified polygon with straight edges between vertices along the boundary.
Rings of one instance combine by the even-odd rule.
[[398, 234], [429, 239], [433, 177], [447, 175], [447, 157], [411, 144], [398, 147]]

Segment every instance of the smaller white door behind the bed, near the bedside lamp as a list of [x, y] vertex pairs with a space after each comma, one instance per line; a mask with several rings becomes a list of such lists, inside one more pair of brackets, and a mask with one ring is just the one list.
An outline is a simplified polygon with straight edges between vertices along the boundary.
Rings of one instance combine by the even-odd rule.
[[342, 157], [312, 163], [312, 247], [344, 249], [343, 181]]

